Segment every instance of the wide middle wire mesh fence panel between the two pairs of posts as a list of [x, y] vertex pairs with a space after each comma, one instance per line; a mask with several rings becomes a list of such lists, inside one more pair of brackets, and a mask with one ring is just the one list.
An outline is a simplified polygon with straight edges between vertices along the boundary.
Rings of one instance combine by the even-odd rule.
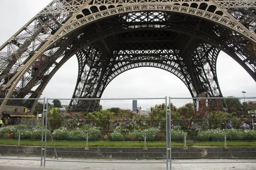
[[53, 140], [47, 133], [46, 160], [166, 162], [166, 98], [70, 102], [47, 102]]

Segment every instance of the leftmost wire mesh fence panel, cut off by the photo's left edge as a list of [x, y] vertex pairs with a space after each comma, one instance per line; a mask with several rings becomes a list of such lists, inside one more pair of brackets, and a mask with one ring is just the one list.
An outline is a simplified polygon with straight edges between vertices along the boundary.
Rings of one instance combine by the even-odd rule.
[[0, 159], [41, 160], [44, 99], [0, 99], [0, 103], [3, 100], [8, 101], [0, 111]]

